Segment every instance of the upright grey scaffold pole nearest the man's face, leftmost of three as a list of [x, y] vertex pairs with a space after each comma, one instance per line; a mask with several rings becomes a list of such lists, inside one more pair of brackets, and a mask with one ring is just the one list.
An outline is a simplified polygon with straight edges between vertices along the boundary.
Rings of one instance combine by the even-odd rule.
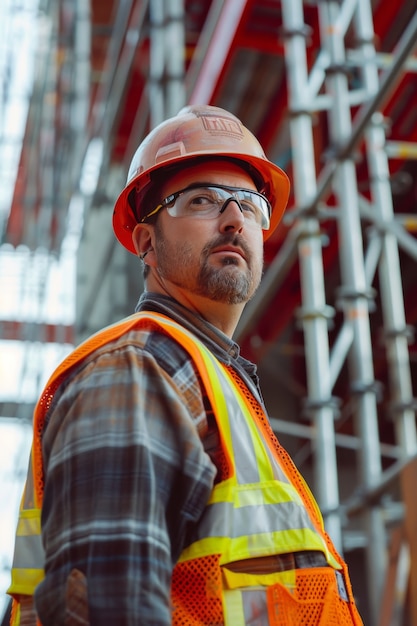
[[[316, 171], [310, 96], [307, 91], [307, 54], [305, 24], [301, 0], [282, 3], [285, 28], [285, 59], [289, 88], [291, 145], [294, 164], [294, 188], [298, 206], [308, 205], [314, 198]], [[308, 408], [315, 425], [314, 491], [320, 507], [335, 511], [339, 505], [339, 486], [334, 432], [334, 407], [331, 402], [329, 340], [327, 317], [330, 307], [325, 303], [324, 271], [320, 225], [314, 217], [300, 224], [298, 243], [301, 273], [302, 307]], [[326, 529], [338, 550], [342, 551], [341, 523], [336, 513], [325, 520]]]

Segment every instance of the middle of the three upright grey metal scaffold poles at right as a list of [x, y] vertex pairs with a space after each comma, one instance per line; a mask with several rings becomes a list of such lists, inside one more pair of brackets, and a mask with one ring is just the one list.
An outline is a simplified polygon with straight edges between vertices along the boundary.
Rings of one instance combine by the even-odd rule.
[[[326, 88], [332, 95], [328, 121], [330, 140], [335, 145], [345, 142], [352, 132], [349, 85], [343, 71], [344, 37], [334, 28], [342, 8], [334, 0], [320, 3], [318, 7], [321, 41], [329, 54], [331, 64], [326, 77]], [[370, 290], [365, 276], [356, 170], [351, 155], [337, 164], [333, 191], [340, 206], [340, 267], [343, 282], [340, 290], [341, 302], [344, 315], [353, 329], [349, 364], [353, 379], [352, 390], [357, 393], [355, 421], [361, 441], [360, 474], [362, 483], [369, 488], [379, 479], [381, 456], [368, 305]], [[385, 571], [385, 528], [378, 509], [368, 509], [364, 517], [368, 534], [367, 578], [370, 581], [368, 593], [371, 621], [376, 623]]]

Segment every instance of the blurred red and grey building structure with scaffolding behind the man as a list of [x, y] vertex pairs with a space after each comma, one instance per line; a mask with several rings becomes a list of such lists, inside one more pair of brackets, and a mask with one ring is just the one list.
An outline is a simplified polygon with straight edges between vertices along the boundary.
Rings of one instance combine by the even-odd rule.
[[[32, 340], [78, 343], [130, 313], [142, 289], [137, 260], [109, 225], [148, 130], [206, 102], [257, 135], [293, 187], [236, 338], [259, 363], [273, 427], [309, 479], [372, 626], [417, 620], [408, 495], [417, 454], [416, 9], [409, 0], [40, 0], [4, 224], [5, 242], [55, 257], [68, 228], [79, 229], [74, 325], [30, 325]], [[27, 338], [28, 325], [3, 320], [2, 332]], [[30, 410], [3, 407], [26, 419]], [[390, 616], [397, 621], [383, 621]]]

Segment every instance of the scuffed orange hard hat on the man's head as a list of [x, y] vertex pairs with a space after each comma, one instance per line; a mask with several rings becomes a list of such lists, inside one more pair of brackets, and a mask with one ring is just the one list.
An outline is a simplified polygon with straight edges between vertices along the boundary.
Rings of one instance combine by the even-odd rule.
[[168, 166], [186, 166], [187, 162], [210, 158], [230, 159], [252, 175], [272, 207], [270, 228], [264, 231], [267, 239], [287, 206], [288, 177], [267, 159], [259, 141], [237, 117], [219, 107], [200, 104], [187, 106], [159, 124], [136, 150], [126, 187], [117, 198], [113, 212], [113, 229], [120, 243], [136, 254], [132, 232], [144, 215], [140, 215], [140, 207], [135, 212], [129, 201], [132, 191], [143, 198], [152, 189], [156, 172], [163, 174]]

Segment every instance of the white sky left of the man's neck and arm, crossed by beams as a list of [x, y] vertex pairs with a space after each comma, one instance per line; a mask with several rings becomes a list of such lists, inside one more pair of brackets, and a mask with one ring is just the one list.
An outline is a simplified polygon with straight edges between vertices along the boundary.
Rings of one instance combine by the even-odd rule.
[[[1, 0], [0, 0], [1, 1]], [[0, 325], [3, 320], [71, 324], [75, 303], [75, 242], [69, 233], [57, 259], [44, 250], [0, 246]], [[69, 344], [0, 339], [2, 402], [36, 402], [47, 379], [72, 349]], [[19, 413], [19, 408], [17, 409]], [[8, 598], [14, 529], [26, 475], [32, 429], [18, 417], [0, 414], [0, 619]]]

